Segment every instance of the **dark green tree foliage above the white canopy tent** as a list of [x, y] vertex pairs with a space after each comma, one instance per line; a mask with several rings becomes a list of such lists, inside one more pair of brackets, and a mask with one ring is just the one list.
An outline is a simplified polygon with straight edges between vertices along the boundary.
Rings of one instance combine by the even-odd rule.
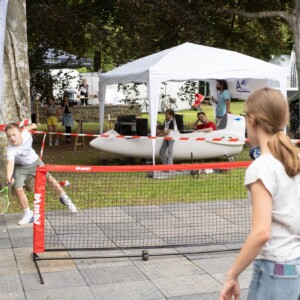
[[265, 60], [292, 48], [280, 19], [250, 20], [220, 13], [290, 10], [293, 1], [119, 0], [27, 1], [30, 69], [48, 48], [94, 57], [95, 70], [116, 66], [184, 42], [236, 50]]

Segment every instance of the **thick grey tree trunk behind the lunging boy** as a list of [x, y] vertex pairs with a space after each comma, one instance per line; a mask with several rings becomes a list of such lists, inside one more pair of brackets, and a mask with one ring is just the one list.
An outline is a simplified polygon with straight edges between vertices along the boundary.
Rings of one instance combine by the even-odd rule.
[[[0, 124], [30, 117], [26, 0], [10, 0], [4, 42], [4, 74]], [[0, 133], [0, 178], [5, 176], [6, 137]]]

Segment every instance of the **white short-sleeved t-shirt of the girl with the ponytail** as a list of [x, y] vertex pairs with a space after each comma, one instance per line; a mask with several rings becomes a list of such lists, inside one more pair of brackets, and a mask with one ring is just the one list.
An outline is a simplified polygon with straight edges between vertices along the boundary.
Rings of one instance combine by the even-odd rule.
[[245, 186], [258, 179], [272, 196], [272, 227], [257, 258], [285, 262], [300, 257], [300, 175], [289, 177], [283, 164], [267, 153], [249, 166]]

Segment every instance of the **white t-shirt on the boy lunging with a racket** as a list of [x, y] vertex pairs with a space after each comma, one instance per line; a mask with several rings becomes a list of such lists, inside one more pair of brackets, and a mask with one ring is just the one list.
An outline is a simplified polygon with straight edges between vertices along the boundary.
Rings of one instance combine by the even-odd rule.
[[32, 136], [28, 130], [22, 130], [22, 144], [7, 146], [7, 160], [14, 160], [15, 164], [27, 166], [34, 163], [39, 157], [32, 149]]

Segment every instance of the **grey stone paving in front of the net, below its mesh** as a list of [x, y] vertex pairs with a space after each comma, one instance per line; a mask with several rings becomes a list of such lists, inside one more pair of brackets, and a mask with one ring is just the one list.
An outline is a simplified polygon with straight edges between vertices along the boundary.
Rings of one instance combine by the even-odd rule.
[[[218, 299], [226, 271], [236, 252], [171, 255], [180, 249], [149, 250], [141, 257], [43, 260], [38, 265], [45, 281], [39, 281], [32, 260], [32, 224], [16, 225], [20, 215], [0, 217], [0, 299]], [[213, 249], [213, 248], [211, 248]], [[214, 246], [216, 249], [216, 246]], [[226, 245], [218, 249], [228, 249]], [[192, 249], [205, 251], [207, 247]], [[127, 250], [120, 255], [137, 254]], [[169, 254], [151, 256], [157, 252]], [[187, 252], [187, 251], [186, 251]], [[76, 256], [112, 255], [76, 253]], [[58, 255], [47, 253], [47, 257]], [[72, 257], [75, 253], [59, 253]], [[114, 254], [115, 255], [115, 254]], [[42, 255], [41, 255], [42, 256]], [[241, 299], [246, 299], [251, 268], [240, 277]]]

